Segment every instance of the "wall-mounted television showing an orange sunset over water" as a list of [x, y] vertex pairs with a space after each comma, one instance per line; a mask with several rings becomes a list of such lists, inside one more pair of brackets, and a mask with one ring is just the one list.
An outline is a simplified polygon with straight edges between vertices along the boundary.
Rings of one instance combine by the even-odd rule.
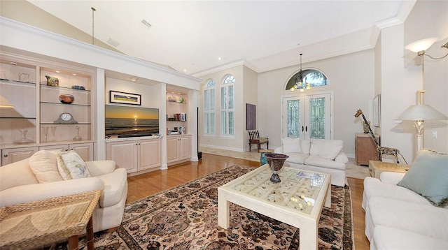
[[159, 133], [159, 109], [106, 105], [106, 136], [144, 136]]

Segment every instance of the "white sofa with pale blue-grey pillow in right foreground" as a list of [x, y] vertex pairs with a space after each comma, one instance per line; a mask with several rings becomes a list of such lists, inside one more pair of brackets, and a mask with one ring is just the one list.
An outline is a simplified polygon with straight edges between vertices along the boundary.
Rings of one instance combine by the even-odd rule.
[[365, 178], [362, 206], [370, 249], [448, 249], [448, 158], [440, 161], [441, 168], [429, 161], [420, 168], [419, 157], [421, 152], [406, 174], [381, 172], [380, 179]]

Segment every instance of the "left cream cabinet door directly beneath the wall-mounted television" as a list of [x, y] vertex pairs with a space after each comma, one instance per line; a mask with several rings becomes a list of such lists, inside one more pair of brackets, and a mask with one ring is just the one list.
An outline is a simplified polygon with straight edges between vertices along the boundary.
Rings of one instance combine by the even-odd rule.
[[107, 142], [106, 158], [115, 161], [118, 168], [127, 172], [137, 171], [137, 140]]

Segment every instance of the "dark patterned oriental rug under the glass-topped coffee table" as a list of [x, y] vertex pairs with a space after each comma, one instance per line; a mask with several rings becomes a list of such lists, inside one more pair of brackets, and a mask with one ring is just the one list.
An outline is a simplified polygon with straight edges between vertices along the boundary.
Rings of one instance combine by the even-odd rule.
[[[113, 233], [95, 233], [95, 249], [299, 249], [300, 230], [238, 205], [230, 227], [218, 226], [218, 186], [253, 168], [231, 166], [129, 203]], [[319, 249], [352, 249], [349, 186], [331, 186], [319, 221]], [[80, 249], [85, 246], [80, 242]]]

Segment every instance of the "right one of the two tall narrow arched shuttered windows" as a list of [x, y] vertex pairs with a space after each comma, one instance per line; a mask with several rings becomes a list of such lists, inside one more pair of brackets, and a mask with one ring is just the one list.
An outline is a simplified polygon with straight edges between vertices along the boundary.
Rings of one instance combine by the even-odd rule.
[[233, 85], [235, 77], [227, 75], [221, 87], [221, 134], [235, 135], [235, 110], [233, 101]]

